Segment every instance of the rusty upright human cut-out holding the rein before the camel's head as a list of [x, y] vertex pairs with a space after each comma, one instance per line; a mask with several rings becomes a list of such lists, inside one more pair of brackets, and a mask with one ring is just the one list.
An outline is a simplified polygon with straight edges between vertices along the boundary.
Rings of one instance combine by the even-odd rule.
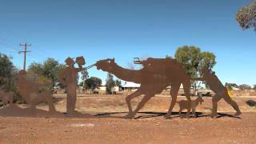
[[66, 58], [67, 67], [62, 70], [60, 74], [60, 82], [66, 86], [66, 114], [68, 116], [74, 115], [75, 104], [77, 100], [77, 76], [78, 72], [82, 71], [82, 64], [78, 63], [79, 68], [74, 67], [74, 60], [72, 58]]

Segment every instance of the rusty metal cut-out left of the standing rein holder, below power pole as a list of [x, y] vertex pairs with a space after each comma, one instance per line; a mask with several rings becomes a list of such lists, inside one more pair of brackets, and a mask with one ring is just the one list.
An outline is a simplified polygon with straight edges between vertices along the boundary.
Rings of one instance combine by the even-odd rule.
[[27, 80], [26, 70], [20, 70], [17, 78], [18, 92], [21, 94], [22, 98], [30, 104], [30, 108], [33, 112], [36, 111], [36, 105], [43, 101], [48, 102], [50, 114], [54, 114], [56, 112], [50, 91], [41, 91], [42, 87], [49, 86], [49, 84], [31, 82], [30, 80]]

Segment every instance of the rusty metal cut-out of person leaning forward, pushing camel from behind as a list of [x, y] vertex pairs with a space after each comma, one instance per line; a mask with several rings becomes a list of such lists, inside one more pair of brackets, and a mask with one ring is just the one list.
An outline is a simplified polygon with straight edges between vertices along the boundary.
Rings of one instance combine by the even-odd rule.
[[238, 104], [232, 100], [228, 94], [228, 90], [225, 86], [222, 85], [222, 82], [218, 79], [218, 77], [211, 73], [210, 70], [203, 68], [202, 70], [202, 78], [194, 78], [194, 80], [198, 81], [205, 81], [206, 84], [210, 87], [210, 90], [213, 90], [215, 95], [213, 98], [213, 110], [212, 114], [210, 114], [212, 117], [217, 116], [217, 106], [218, 101], [222, 98], [230, 104], [234, 110], [236, 110], [236, 116], [241, 114], [241, 111], [239, 110]]

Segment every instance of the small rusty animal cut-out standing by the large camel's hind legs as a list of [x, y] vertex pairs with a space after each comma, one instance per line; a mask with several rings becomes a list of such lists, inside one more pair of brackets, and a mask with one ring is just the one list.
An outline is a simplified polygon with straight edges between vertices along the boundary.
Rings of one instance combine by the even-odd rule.
[[[191, 101], [191, 103], [190, 103], [191, 104], [191, 109], [192, 109], [192, 114], [194, 114], [194, 117], [196, 117], [195, 108], [198, 106], [199, 102], [200, 102], [200, 104], [202, 104], [202, 102], [204, 102], [202, 97], [198, 97], [196, 100]], [[181, 101], [178, 102], [178, 104], [179, 104], [179, 108], [180, 108], [178, 114], [179, 114], [179, 117], [181, 118], [182, 110], [184, 110], [184, 109], [188, 110], [189, 109], [189, 101], [181, 100]], [[189, 112], [186, 114], [186, 116], [188, 117], [188, 115], [189, 115]]]

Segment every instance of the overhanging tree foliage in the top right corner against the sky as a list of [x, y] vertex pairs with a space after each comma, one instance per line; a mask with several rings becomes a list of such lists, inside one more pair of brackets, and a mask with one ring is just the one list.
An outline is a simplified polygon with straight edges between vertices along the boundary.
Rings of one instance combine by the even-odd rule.
[[236, 19], [243, 30], [253, 28], [256, 31], [256, 1], [238, 10]]

